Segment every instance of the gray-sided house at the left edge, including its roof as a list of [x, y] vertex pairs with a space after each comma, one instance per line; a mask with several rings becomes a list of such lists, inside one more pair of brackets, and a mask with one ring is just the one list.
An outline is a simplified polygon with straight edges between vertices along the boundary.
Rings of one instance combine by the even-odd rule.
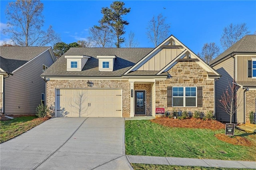
[[51, 47], [0, 47], [0, 108], [7, 115], [35, 114], [45, 102], [40, 75], [56, 61]]

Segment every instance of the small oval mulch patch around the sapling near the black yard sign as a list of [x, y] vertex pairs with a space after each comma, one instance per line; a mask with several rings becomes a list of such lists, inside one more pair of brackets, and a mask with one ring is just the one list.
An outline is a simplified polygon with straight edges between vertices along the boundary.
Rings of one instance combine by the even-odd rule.
[[250, 140], [241, 136], [227, 136], [225, 134], [215, 134], [214, 136], [218, 138], [218, 140], [222, 140], [231, 144], [238, 144], [242, 146], [252, 145], [252, 142], [250, 142]]

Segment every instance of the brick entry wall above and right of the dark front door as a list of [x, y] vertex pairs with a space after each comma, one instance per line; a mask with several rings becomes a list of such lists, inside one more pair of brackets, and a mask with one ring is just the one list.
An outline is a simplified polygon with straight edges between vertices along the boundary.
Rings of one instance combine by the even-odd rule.
[[146, 115], [151, 116], [151, 84], [134, 84], [135, 90], [146, 90]]

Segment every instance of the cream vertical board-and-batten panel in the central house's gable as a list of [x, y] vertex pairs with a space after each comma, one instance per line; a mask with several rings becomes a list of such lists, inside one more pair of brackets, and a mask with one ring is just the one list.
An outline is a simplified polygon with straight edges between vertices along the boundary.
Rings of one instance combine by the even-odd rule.
[[160, 71], [180, 53], [182, 53], [182, 49], [162, 49], [138, 68], [138, 71]]

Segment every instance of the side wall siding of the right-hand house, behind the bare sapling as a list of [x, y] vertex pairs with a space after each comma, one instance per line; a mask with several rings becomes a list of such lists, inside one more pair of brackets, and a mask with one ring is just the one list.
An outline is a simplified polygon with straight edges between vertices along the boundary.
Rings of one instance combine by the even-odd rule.
[[[234, 78], [234, 59], [229, 58], [213, 67], [222, 77], [215, 81], [215, 114], [216, 119], [222, 122], [229, 122], [230, 115], [222, 110], [219, 100], [223, 91], [228, 86], [228, 81]], [[233, 116], [234, 117], [234, 116]], [[232, 121], [234, 118], [232, 117]]]

